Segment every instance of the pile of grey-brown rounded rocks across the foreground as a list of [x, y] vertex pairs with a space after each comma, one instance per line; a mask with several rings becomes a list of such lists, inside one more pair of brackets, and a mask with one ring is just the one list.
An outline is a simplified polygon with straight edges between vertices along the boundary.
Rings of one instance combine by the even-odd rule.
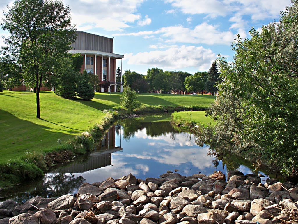
[[189, 177], [167, 171], [160, 178], [132, 174], [83, 183], [77, 194], [36, 196], [20, 205], [0, 204], [0, 224], [270, 224], [294, 223], [298, 185], [255, 174], [218, 171]]

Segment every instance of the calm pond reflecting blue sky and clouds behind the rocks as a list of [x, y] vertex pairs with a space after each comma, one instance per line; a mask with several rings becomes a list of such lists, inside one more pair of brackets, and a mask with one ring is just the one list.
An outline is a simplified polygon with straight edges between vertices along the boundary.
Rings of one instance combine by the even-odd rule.
[[[158, 178], [175, 170], [183, 176], [199, 172], [206, 175], [214, 171], [227, 173], [221, 162], [214, 166], [215, 158], [207, 155], [207, 146], [199, 147], [194, 142], [194, 134], [181, 132], [168, 121], [119, 120], [89, 155], [56, 166], [43, 179], [2, 191], [0, 201], [73, 194], [83, 182], [102, 182], [108, 177], [117, 179], [129, 173], [140, 179]], [[244, 174], [252, 173], [252, 169], [245, 165], [240, 165], [239, 170]]]

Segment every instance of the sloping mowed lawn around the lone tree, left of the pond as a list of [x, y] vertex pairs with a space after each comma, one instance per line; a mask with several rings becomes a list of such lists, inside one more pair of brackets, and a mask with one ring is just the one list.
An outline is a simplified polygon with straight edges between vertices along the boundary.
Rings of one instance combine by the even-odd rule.
[[105, 113], [81, 101], [63, 99], [53, 92], [40, 94], [41, 118], [36, 118], [36, 95], [0, 93], [0, 162], [25, 151], [44, 151], [73, 139], [100, 122]]

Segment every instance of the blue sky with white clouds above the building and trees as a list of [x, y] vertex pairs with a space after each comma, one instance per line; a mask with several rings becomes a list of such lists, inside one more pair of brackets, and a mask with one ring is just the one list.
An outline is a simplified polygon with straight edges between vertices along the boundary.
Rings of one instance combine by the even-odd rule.
[[[231, 43], [279, 19], [290, 0], [62, 0], [77, 31], [114, 37], [122, 71], [148, 68], [194, 74], [208, 71], [218, 54], [232, 61]], [[0, 0], [3, 10], [13, 1]], [[9, 33], [0, 29], [0, 36]], [[0, 38], [0, 46], [3, 46]], [[121, 66], [121, 59], [117, 66]]]

